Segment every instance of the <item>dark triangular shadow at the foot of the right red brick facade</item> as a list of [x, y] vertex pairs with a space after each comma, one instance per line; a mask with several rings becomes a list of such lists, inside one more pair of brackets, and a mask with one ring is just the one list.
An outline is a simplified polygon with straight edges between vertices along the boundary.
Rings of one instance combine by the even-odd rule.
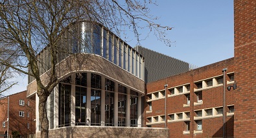
[[[234, 116], [226, 121], [226, 137], [234, 137]], [[213, 137], [223, 137], [223, 126], [216, 131]]]

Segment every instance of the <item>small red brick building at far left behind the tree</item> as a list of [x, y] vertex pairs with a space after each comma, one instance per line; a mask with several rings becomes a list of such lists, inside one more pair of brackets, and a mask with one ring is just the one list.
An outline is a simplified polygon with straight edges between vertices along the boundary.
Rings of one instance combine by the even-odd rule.
[[27, 99], [27, 91], [0, 98], [0, 132], [9, 137], [29, 137], [36, 133], [35, 100]]

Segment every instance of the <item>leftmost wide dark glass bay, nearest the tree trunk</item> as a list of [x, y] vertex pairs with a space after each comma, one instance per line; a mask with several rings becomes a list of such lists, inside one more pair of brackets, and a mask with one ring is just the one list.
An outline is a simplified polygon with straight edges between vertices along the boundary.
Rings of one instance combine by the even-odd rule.
[[60, 82], [59, 125], [70, 126], [71, 123], [71, 76]]

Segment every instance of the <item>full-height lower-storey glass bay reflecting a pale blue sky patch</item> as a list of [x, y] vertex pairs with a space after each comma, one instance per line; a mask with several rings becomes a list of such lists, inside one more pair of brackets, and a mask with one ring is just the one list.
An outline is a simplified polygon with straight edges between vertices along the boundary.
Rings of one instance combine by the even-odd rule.
[[[94, 89], [93, 89], [94, 88]], [[100, 126], [101, 76], [91, 74], [91, 125]]]

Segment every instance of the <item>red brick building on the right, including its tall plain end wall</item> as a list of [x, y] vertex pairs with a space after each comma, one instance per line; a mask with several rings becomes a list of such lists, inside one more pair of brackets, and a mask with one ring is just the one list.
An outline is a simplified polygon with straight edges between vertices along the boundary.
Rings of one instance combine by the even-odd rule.
[[146, 84], [148, 127], [166, 123], [170, 137], [256, 136], [255, 7], [234, 1], [234, 58]]

